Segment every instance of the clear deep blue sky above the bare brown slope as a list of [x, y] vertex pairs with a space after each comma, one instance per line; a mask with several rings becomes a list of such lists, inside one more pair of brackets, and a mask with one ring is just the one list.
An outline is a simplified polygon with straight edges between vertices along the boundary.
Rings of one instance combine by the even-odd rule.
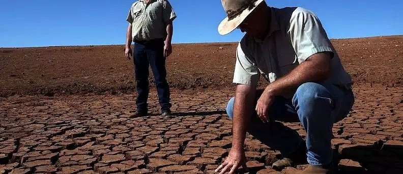
[[[12, 0], [0, 5], [0, 47], [124, 44], [126, 16], [134, 1]], [[321, 19], [330, 38], [403, 34], [401, 0], [266, 0], [272, 7], [299, 6]], [[234, 42], [238, 30], [217, 32], [225, 17], [219, 0], [170, 0], [178, 18], [174, 43]]]

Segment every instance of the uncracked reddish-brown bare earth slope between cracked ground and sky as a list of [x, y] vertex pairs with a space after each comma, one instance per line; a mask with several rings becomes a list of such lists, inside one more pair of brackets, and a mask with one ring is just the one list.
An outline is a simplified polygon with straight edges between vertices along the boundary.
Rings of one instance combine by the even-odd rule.
[[[402, 86], [403, 36], [332, 42], [356, 84]], [[170, 86], [179, 90], [231, 88], [236, 46], [174, 44], [174, 53], [166, 62]], [[124, 57], [121, 45], [1, 48], [0, 78], [1, 96], [135, 91], [133, 62]]]

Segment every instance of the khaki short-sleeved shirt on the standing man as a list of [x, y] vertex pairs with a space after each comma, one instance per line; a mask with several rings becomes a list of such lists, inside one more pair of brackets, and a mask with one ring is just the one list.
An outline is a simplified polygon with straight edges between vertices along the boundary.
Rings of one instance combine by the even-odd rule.
[[133, 41], [148, 41], [166, 37], [168, 20], [176, 14], [166, 0], [139, 0], [131, 6], [126, 20], [132, 24]]

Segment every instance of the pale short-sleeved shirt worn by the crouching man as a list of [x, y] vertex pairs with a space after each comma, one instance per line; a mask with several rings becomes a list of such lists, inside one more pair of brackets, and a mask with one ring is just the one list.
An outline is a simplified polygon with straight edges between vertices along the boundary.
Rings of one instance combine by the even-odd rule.
[[318, 17], [303, 8], [271, 8], [267, 37], [259, 40], [246, 34], [239, 42], [233, 82], [257, 85], [261, 75], [273, 82], [319, 52], [332, 56], [332, 75], [323, 82], [350, 89], [351, 77]]

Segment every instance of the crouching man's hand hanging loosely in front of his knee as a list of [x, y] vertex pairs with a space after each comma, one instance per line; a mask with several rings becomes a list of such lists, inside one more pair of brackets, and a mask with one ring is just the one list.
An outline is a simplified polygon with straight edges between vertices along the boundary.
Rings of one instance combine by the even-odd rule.
[[263, 123], [270, 122], [269, 109], [274, 102], [275, 96], [266, 88], [256, 104], [256, 112]]

